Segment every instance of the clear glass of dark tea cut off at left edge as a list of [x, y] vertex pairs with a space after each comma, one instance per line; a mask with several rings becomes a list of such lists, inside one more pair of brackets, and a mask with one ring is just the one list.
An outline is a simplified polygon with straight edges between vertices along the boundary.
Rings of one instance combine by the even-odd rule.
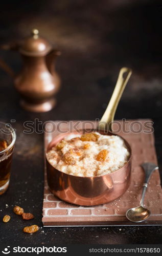
[[10, 170], [16, 133], [10, 124], [0, 122], [0, 195], [10, 182]]

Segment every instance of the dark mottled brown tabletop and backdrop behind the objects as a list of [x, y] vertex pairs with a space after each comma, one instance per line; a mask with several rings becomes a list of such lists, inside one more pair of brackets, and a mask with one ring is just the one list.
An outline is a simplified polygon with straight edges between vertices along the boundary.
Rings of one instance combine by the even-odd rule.
[[[38, 28], [62, 51], [57, 71], [62, 78], [58, 104], [49, 113], [35, 114], [19, 108], [12, 79], [0, 70], [0, 119], [16, 119], [17, 141], [11, 184], [0, 198], [0, 240], [13, 244], [130, 244], [161, 243], [161, 227], [42, 228], [30, 236], [26, 224], [41, 226], [43, 195], [43, 135], [22, 133], [27, 120], [95, 119], [101, 117], [117, 80], [128, 66], [133, 75], [119, 104], [116, 119], [152, 118], [161, 166], [161, 1], [60, 0], [1, 3], [0, 42], [20, 39]], [[0, 51], [13, 67], [21, 67], [16, 52]], [[9, 205], [6, 208], [6, 204]], [[36, 218], [22, 221], [12, 213], [19, 204]], [[11, 221], [2, 223], [5, 214]], [[44, 230], [44, 233], [41, 232]]]

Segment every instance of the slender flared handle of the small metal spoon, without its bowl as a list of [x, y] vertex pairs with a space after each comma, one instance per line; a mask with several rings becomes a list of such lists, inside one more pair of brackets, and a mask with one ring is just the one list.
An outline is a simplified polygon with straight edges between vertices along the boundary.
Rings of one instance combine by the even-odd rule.
[[145, 171], [145, 182], [143, 184], [143, 192], [142, 192], [140, 205], [144, 206], [144, 198], [145, 198], [148, 182], [150, 180], [151, 174], [154, 172], [154, 170], [158, 169], [158, 166], [154, 163], [143, 163], [141, 166]]

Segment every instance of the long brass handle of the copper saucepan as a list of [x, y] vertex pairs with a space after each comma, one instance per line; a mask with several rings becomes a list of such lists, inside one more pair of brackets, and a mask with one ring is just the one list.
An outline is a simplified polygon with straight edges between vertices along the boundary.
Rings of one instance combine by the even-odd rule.
[[103, 114], [100, 122], [99, 122], [99, 129], [105, 130], [108, 127], [108, 130], [112, 131], [112, 122], [114, 119], [114, 114], [117, 110], [118, 103], [120, 98], [122, 97], [123, 91], [126, 87], [126, 84], [131, 76], [132, 70], [129, 68], [122, 68], [119, 72], [118, 80], [115, 85], [113, 94], [111, 99], [108, 103], [107, 109]]

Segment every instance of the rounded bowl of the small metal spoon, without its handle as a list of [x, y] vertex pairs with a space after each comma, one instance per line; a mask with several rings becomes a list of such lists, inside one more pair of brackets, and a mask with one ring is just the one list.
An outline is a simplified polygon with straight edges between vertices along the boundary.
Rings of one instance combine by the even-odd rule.
[[132, 222], [142, 222], [147, 220], [151, 215], [150, 210], [144, 208], [143, 206], [138, 206], [134, 208], [130, 208], [126, 212], [126, 217], [128, 220]]

